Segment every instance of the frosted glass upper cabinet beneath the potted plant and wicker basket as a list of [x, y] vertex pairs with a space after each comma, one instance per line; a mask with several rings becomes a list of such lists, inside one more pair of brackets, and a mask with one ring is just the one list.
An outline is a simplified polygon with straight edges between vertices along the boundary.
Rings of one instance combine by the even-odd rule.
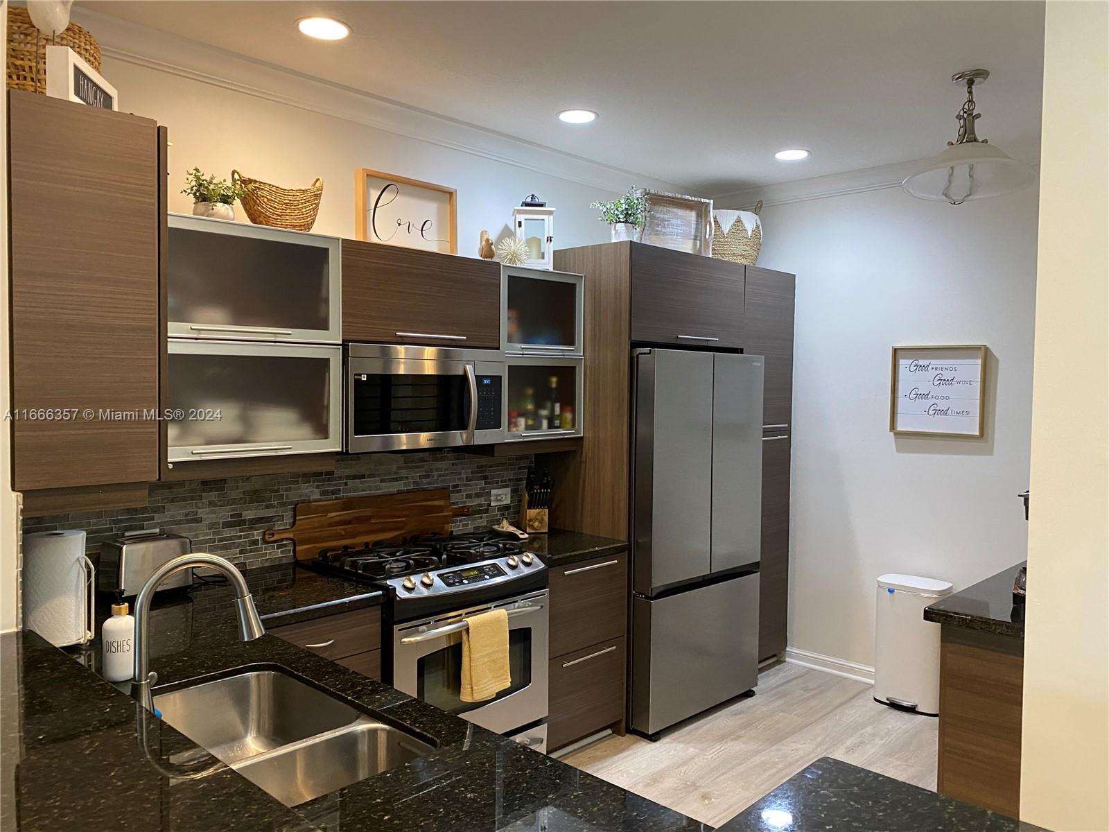
[[339, 343], [339, 241], [170, 216], [169, 335]]

